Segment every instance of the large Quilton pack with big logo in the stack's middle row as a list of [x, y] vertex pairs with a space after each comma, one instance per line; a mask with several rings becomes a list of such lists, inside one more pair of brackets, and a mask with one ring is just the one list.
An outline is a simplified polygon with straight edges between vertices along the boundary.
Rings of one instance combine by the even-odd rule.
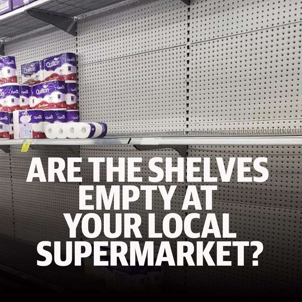
[[66, 109], [64, 81], [50, 81], [31, 87], [31, 109]]

